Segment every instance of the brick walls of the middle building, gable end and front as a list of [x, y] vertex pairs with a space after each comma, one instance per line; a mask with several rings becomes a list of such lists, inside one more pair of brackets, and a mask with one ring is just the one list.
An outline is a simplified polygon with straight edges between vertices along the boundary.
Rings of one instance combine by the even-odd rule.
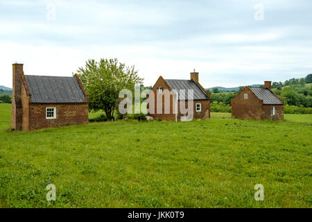
[[[158, 87], [163, 87], [164, 94], [157, 94]], [[173, 95], [168, 96], [170, 97], [170, 105], [168, 105], [169, 113], [165, 114], [165, 105], [164, 105], [165, 93], [166, 93], [165, 90], [170, 91], [171, 89], [170, 87], [168, 87], [168, 85], [166, 84], [166, 81], [162, 78], [162, 76], [160, 76], [152, 89], [153, 94], [154, 94], [154, 99], [155, 99], [154, 108], [152, 108], [151, 105], [148, 105], [148, 108], [150, 108], [150, 110], [153, 110], [154, 113], [149, 113], [148, 115], [150, 117], [157, 118], [157, 119], [162, 119], [166, 121], [175, 121], [175, 101], [173, 101]], [[149, 94], [148, 98], [150, 99], [151, 96], [152, 94]], [[162, 96], [162, 99], [157, 99], [157, 96]], [[201, 112], [196, 112], [196, 103], [202, 104]], [[157, 113], [157, 107], [160, 108], [161, 106], [162, 106], [162, 110], [159, 110], [161, 111], [161, 113]], [[177, 103], [177, 108], [179, 110], [177, 119], [180, 120], [181, 117], [184, 116], [184, 114], [182, 114], [180, 110], [180, 102]], [[188, 108], [187, 103], [185, 105], [185, 108]], [[210, 101], [209, 100], [193, 101], [193, 118], [194, 119], [209, 119], [210, 118]]]

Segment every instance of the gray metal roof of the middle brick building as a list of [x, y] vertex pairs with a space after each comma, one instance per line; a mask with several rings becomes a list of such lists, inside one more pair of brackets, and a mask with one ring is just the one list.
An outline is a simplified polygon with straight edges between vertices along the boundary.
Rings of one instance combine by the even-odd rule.
[[[202, 91], [200, 86], [194, 80], [178, 80], [178, 79], [165, 79], [166, 83], [171, 87], [171, 89], [177, 90], [179, 94], [179, 99], [188, 99], [187, 89], [193, 89], [193, 100], [196, 99], [209, 99], [207, 94]], [[185, 94], [181, 93], [181, 89], [184, 89]]]

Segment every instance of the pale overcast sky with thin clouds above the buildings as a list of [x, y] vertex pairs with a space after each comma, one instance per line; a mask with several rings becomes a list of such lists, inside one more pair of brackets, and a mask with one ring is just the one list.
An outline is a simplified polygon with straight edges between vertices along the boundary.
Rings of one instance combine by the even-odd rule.
[[284, 81], [312, 73], [311, 0], [0, 0], [0, 85], [12, 63], [29, 75], [71, 76], [118, 58], [145, 85], [159, 75], [204, 87]]

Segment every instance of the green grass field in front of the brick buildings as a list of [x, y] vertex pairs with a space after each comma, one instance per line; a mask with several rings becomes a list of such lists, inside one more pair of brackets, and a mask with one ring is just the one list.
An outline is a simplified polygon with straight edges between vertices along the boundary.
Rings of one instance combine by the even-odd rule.
[[0, 207], [311, 207], [312, 115], [285, 117], [11, 133], [0, 104]]

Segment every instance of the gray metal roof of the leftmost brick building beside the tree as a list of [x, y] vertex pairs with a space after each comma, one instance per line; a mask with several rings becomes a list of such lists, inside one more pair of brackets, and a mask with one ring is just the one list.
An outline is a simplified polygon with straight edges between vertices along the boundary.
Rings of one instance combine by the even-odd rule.
[[76, 77], [25, 75], [32, 103], [87, 103]]

